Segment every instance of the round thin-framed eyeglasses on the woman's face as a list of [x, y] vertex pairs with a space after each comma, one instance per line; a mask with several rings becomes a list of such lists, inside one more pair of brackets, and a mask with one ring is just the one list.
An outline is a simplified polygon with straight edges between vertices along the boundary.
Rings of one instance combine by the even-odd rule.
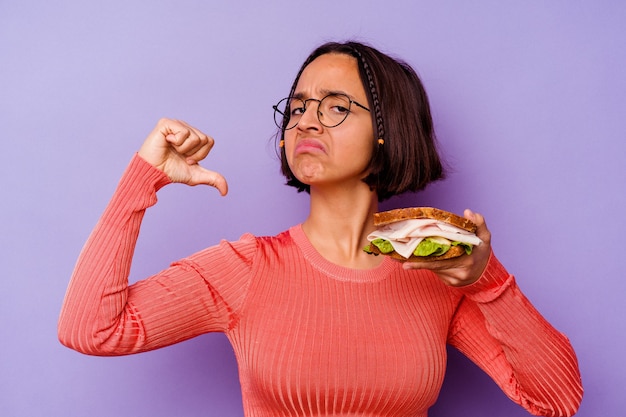
[[308, 98], [302, 100], [296, 97], [286, 97], [278, 102], [274, 107], [274, 123], [279, 129], [293, 129], [296, 127], [304, 112], [306, 112], [309, 101], [317, 101], [317, 119], [325, 127], [336, 127], [343, 123], [350, 114], [352, 104], [370, 111], [367, 107], [350, 99], [345, 94], [329, 94], [318, 100]]

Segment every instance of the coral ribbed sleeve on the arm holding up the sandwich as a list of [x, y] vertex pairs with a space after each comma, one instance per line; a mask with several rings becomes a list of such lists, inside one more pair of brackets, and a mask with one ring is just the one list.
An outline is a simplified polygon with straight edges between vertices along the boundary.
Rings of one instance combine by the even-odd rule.
[[458, 289], [449, 343], [483, 368], [515, 402], [542, 416], [571, 416], [582, 400], [574, 350], [524, 296], [492, 254], [483, 277]]

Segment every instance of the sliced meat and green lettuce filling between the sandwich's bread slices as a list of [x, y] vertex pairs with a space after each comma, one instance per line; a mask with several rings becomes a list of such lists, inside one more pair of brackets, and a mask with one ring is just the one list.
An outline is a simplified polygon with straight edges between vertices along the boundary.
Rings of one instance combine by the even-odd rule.
[[[452, 246], [461, 245], [467, 254], [482, 242], [467, 230], [435, 219], [408, 219], [393, 222], [372, 232], [367, 240], [382, 253], [395, 251], [404, 258], [440, 256]], [[370, 252], [369, 247], [365, 247]]]

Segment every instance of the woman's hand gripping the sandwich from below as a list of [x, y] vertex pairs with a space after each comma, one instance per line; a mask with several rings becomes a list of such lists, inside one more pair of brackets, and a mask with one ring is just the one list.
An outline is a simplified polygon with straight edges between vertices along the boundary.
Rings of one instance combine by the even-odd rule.
[[469, 209], [465, 210], [463, 215], [476, 224], [476, 235], [483, 241], [480, 245], [474, 246], [471, 255], [442, 261], [405, 262], [403, 264], [404, 269], [429, 269], [446, 284], [454, 287], [462, 287], [476, 282], [485, 270], [491, 255], [491, 233], [487, 229], [485, 218], [482, 215]]

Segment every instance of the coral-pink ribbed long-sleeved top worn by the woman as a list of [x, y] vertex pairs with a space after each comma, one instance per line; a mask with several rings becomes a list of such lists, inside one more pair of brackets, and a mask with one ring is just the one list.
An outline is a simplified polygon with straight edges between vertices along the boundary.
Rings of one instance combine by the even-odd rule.
[[494, 256], [475, 284], [451, 288], [389, 259], [372, 270], [337, 266], [294, 226], [223, 241], [129, 286], [143, 214], [168, 182], [132, 160], [77, 262], [59, 321], [65, 345], [123, 355], [224, 332], [247, 417], [424, 417], [446, 344], [531, 413], [578, 408], [570, 343]]

